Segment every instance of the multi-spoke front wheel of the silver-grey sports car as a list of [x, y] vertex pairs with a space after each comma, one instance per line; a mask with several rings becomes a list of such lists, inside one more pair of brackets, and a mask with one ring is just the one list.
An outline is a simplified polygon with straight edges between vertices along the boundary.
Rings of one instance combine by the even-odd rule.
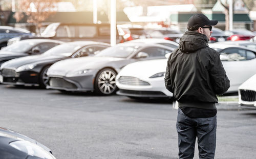
[[113, 69], [103, 69], [95, 78], [95, 92], [100, 95], [112, 95], [116, 92], [116, 75]]

